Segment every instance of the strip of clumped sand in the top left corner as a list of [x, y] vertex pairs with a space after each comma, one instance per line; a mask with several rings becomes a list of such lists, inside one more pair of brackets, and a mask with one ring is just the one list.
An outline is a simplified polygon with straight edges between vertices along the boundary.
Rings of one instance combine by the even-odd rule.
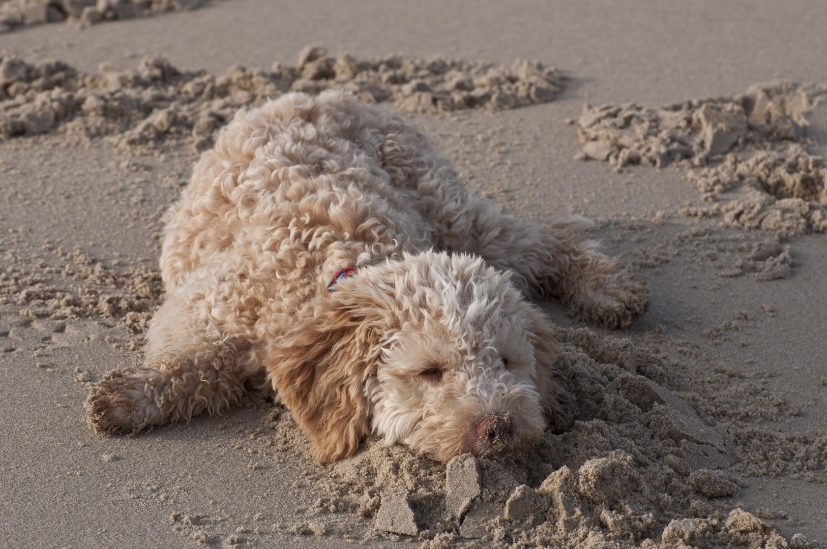
[[112, 19], [192, 10], [202, 4], [203, 0], [0, 0], [0, 32], [56, 21], [88, 26]]

